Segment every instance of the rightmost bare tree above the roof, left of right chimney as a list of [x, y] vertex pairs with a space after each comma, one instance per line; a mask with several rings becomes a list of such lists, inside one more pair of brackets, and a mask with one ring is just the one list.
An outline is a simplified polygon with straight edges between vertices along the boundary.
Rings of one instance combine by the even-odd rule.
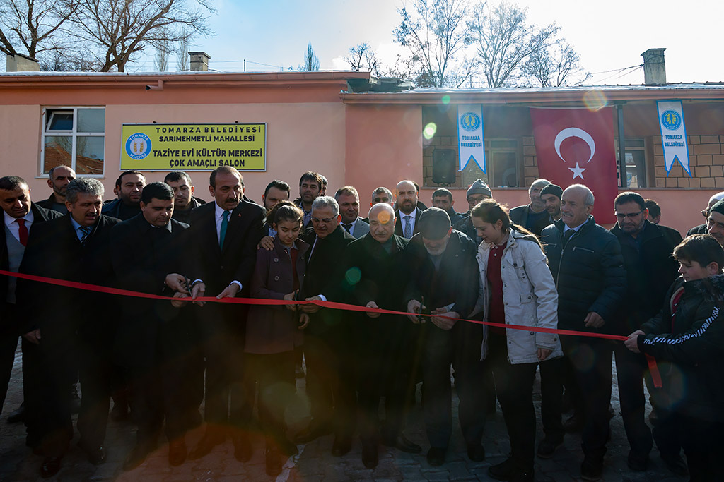
[[531, 53], [522, 66], [526, 77], [535, 79], [541, 87], [580, 85], [591, 78], [581, 66], [581, 58], [565, 39], [557, 40], [548, 48]]

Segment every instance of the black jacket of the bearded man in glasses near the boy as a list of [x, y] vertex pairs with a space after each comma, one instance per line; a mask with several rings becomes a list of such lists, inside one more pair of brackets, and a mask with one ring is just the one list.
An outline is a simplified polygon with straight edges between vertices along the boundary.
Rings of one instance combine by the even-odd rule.
[[678, 262], [672, 253], [681, 243], [681, 235], [649, 221], [644, 221], [640, 244], [624, 233], [618, 223], [611, 228], [611, 233], [621, 245], [628, 289], [627, 302], [620, 304], [618, 315], [607, 322], [618, 325], [614, 331], [618, 335], [628, 335], [661, 309], [666, 292], [678, 276]]

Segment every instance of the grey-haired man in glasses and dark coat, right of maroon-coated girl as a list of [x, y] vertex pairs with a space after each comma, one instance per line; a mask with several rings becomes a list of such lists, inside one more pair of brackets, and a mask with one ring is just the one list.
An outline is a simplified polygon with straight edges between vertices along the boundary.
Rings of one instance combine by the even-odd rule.
[[[342, 301], [342, 254], [354, 237], [340, 226], [340, 207], [333, 197], [314, 200], [311, 222], [315, 237], [307, 251], [307, 269], [298, 299]], [[307, 395], [312, 421], [298, 434], [297, 443], [310, 442], [334, 431], [332, 455], [350, 451], [355, 429], [355, 385], [350, 324], [342, 311], [303, 305], [311, 321], [304, 337]]]

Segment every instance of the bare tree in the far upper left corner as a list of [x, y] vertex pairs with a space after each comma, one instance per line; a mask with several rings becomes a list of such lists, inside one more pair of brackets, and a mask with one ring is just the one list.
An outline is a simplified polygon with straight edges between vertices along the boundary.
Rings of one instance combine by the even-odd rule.
[[59, 48], [59, 29], [75, 7], [73, 0], [0, 0], [0, 52], [37, 59]]

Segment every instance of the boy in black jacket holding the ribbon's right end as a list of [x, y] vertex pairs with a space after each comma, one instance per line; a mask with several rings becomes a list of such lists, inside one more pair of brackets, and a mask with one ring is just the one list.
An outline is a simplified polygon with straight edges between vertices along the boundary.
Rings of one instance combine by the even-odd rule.
[[681, 443], [691, 481], [721, 481], [724, 250], [712, 236], [694, 235], [676, 246], [674, 257], [681, 277], [671, 285], [659, 314], [631, 333], [626, 347], [659, 363], [664, 400], [657, 405], [667, 410], [654, 426], [654, 439], [662, 457], [667, 455], [665, 444]]

